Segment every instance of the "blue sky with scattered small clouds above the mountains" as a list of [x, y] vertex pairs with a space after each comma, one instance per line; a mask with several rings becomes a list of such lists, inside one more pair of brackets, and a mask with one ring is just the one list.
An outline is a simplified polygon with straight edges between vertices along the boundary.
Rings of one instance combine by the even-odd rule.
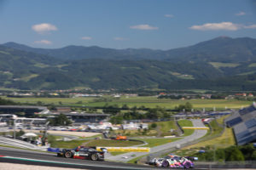
[[0, 0], [0, 43], [171, 49], [256, 38], [253, 0]]

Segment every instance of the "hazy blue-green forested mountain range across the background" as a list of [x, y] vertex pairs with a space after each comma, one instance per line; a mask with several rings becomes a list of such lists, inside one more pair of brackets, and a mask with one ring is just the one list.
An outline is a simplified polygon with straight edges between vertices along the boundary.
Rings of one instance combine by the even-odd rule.
[[0, 87], [256, 90], [256, 39], [217, 37], [186, 48], [0, 45]]

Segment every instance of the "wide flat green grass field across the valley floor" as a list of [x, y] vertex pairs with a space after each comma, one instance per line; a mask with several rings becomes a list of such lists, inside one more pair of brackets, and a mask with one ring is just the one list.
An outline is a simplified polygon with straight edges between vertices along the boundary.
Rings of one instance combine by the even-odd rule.
[[7, 98], [12, 99], [15, 102], [37, 104], [38, 101], [44, 104], [55, 104], [59, 105], [73, 105], [73, 106], [104, 106], [108, 105], [128, 105], [129, 107], [137, 106], [140, 107], [144, 105], [148, 108], [154, 108], [157, 105], [164, 107], [166, 109], [174, 109], [178, 105], [184, 105], [189, 102], [193, 105], [195, 109], [201, 110], [206, 108], [207, 110], [212, 110], [215, 107], [217, 110], [223, 110], [225, 107], [229, 109], [240, 109], [241, 107], [246, 107], [247, 105], [252, 105], [251, 101], [241, 101], [236, 99], [157, 99], [157, 97], [121, 97], [119, 99], [113, 99], [107, 97], [108, 101], [96, 101], [99, 98]]

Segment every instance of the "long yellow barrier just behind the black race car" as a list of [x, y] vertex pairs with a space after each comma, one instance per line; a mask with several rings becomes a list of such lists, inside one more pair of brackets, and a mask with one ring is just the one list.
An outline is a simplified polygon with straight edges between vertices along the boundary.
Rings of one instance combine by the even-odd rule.
[[148, 147], [104, 147], [97, 146], [96, 150], [101, 151], [102, 148], [106, 148], [108, 151], [127, 151], [127, 152], [149, 152], [150, 148]]

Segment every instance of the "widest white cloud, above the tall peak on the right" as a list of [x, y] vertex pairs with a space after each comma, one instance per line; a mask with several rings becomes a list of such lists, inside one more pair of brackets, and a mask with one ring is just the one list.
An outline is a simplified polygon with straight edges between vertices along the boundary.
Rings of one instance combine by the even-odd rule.
[[198, 31], [237, 31], [241, 29], [256, 29], [256, 25], [245, 26], [242, 24], [235, 24], [232, 22], [220, 22], [220, 23], [207, 23], [201, 26], [191, 26], [189, 29]]

